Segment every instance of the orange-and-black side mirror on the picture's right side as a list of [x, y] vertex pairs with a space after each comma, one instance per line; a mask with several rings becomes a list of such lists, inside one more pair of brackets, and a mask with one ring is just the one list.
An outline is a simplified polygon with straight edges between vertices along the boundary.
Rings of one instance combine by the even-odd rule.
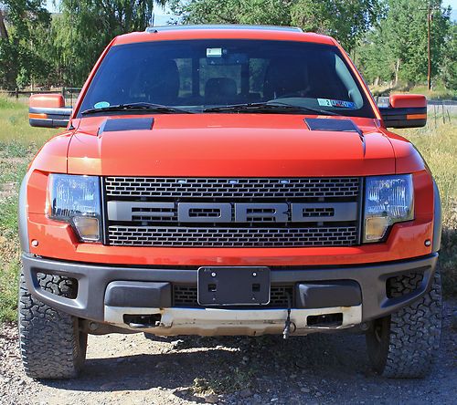
[[427, 123], [427, 99], [420, 94], [392, 94], [379, 108], [386, 128], [417, 128]]

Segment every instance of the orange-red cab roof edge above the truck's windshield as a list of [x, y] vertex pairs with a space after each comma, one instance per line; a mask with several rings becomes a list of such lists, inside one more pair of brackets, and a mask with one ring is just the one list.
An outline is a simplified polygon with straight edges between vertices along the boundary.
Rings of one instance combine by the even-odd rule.
[[270, 39], [283, 41], [314, 42], [335, 45], [331, 36], [303, 33], [292, 26], [241, 26], [241, 25], [201, 25], [201, 26], [151, 26], [145, 32], [133, 32], [114, 38], [112, 45], [136, 42], [186, 40], [186, 39]]

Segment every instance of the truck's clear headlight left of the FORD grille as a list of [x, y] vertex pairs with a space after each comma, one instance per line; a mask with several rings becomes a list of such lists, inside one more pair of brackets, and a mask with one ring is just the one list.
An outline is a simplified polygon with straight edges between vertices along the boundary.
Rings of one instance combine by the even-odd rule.
[[49, 218], [71, 223], [81, 241], [100, 242], [100, 179], [50, 174], [47, 212]]

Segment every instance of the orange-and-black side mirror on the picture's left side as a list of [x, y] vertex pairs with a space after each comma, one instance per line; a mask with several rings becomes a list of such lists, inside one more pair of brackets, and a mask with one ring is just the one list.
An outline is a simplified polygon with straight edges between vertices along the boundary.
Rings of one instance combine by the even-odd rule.
[[34, 94], [28, 101], [28, 121], [32, 127], [67, 127], [71, 109], [61, 94]]

